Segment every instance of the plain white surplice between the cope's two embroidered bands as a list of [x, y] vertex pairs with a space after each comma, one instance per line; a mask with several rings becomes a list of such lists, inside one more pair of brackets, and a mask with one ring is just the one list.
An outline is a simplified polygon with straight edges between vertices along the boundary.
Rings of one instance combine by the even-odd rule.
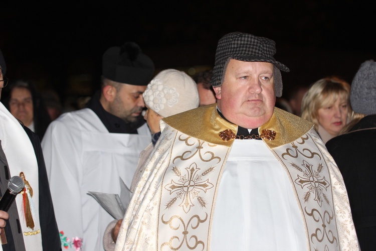
[[266, 144], [235, 140], [216, 199], [211, 249], [305, 250], [300, 214], [290, 179]]

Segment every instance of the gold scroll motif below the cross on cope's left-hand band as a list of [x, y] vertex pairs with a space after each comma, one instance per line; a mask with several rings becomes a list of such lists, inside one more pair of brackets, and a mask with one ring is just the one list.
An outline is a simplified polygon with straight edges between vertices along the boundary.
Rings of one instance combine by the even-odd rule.
[[[193, 215], [186, 224], [184, 220], [177, 215], [172, 216], [167, 221], [163, 219], [163, 216], [164, 215], [162, 215], [162, 218], [161, 218], [162, 223], [168, 224], [171, 229], [179, 230], [179, 228], [182, 226], [183, 228], [181, 229], [182, 231], [180, 230], [177, 232], [181, 232], [183, 236], [182, 238], [180, 238], [179, 236], [172, 236], [168, 242], [162, 243], [162, 245], [160, 246], [160, 250], [162, 250], [164, 246], [168, 246], [171, 250], [178, 250], [184, 244], [184, 242], [185, 242], [186, 247], [188, 247], [191, 250], [195, 249], [198, 245], [202, 245], [203, 246], [202, 250], [204, 250], [205, 248], [204, 241], [199, 240], [197, 235], [192, 235], [192, 236], [188, 236], [188, 235], [189, 235], [189, 227], [191, 226], [192, 229], [198, 228], [200, 223], [204, 223], [208, 219], [208, 214], [206, 214], [205, 219], [200, 219], [199, 215]], [[175, 225], [174, 225], [174, 222], [176, 222]], [[177, 245], [173, 245], [174, 240], [177, 240], [177, 243], [176, 243]], [[192, 243], [192, 240], [194, 240], [193, 243]]]

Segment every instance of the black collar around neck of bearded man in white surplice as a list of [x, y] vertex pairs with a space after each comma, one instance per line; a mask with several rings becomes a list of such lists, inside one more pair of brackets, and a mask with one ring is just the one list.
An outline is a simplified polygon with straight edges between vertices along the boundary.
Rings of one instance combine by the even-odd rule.
[[125, 122], [123, 119], [107, 112], [99, 101], [100, 91], [97, 91], [89, 100], [86, 107], [92, 109], [102, 121], [109, 133], [137, 134], [137, 129], [145, 123], [142, 115], [135, 122]]

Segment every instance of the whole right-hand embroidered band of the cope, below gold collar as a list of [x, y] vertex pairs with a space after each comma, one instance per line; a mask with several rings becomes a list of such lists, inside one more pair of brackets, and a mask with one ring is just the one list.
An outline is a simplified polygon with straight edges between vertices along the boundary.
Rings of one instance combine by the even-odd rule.
[[[320, 154], [320, 150], [314, 143], [314, 135], [311, 138], [309, 134], [306, 134], [292, 142], [280, 152], [279, 156], [281, 160], [286, 161], [285, 165], [294, 181], [297, 195], [300, 197], [302, 209], [307, 217], [307, 233], [312, 250], [323, 248], [329, 250], [333, 247], [337, 250], [338, 233], [332, 210], [329, 172], [323, 160], [324, 156]], [[312, 199], [318, 206], [310, 203], [313, 202]], [[314, 245], [317, 246], [314, 247]]]

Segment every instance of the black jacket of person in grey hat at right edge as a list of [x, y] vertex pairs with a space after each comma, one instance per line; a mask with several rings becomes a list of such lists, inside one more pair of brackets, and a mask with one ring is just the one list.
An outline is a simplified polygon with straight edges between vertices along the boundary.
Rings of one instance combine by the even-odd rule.
[[360, 248], [374, 250], [376, 236], [376, 115], [326, 143], [343, 176]]

